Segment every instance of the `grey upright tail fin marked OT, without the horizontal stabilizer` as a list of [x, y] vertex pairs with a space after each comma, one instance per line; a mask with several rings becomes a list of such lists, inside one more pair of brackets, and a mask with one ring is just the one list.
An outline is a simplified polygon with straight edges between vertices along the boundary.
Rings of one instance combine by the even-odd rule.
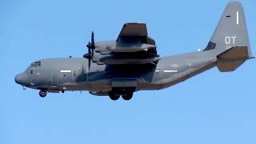
[[246, 46], [251, 57], [246, 18], [240, 2], [230, 2], [226, 6], [206, 50], [214, 50], [218, 55], [235, 46]]

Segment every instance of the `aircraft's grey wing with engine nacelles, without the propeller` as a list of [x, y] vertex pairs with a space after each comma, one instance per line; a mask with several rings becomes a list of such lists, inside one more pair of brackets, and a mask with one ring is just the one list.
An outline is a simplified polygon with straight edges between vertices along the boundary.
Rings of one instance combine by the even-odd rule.
[[145, 23], [126, 23], [116, 41], [95, 43], [95, 52], [104, 56], [94, 59], [103, 64], [145, 64], [158, 61], [153, 38], [148, 37]]

